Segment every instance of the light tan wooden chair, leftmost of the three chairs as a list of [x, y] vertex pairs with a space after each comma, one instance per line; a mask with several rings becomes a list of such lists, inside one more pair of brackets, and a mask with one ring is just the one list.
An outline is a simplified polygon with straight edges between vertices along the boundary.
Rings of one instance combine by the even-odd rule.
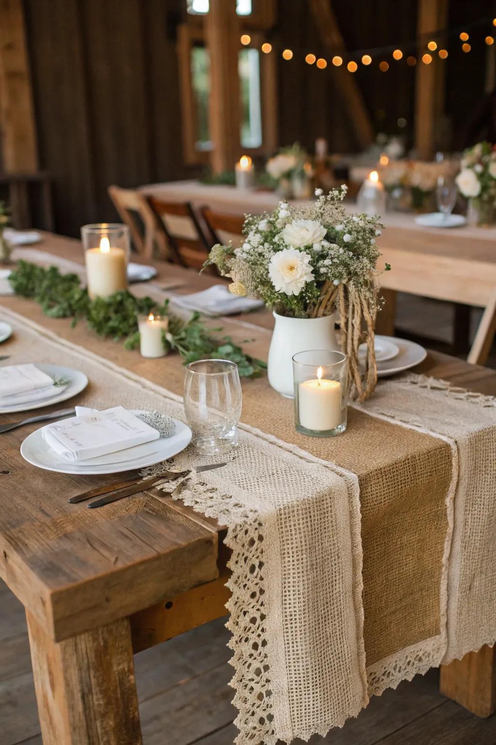
[[132, 243], [138, 253], [152, 259], [155, 253], [167, 257], [169, 250], [164, 234], [158, 229], [154, 212], [139, 191], [109, 186], [109, 197], [123, 223], [129, 227]]

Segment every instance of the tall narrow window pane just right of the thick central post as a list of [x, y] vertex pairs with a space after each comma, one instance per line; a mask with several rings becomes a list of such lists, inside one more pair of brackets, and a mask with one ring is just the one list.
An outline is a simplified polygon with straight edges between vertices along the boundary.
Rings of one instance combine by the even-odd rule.
[[238, 57], [241, 123], [239, 135], [243, 148], [262, 145], [262, 107], [260, 103], [260, 57], [258, 49], [242, 49]]

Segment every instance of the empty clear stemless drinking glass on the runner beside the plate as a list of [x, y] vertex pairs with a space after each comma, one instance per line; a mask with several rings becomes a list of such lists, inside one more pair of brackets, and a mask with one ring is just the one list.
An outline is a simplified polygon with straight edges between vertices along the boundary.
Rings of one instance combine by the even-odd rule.
[[184, 411], [199, 453], [226, 453], [236, 445], [241, 406], [241, 384], [234, 362], [199, 360], [187, 365]]

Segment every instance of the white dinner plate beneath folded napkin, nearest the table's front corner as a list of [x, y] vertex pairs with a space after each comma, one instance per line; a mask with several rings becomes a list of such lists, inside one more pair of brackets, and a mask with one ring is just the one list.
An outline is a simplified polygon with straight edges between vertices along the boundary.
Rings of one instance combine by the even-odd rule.
[[[141, 411], [132, 410], [132, 413], [138, 414]], [[91, 476], [134, 471], [137, 468], [154, 466], [155, 463], [167, 460], [167, 458], [180, 453], [190, 444], [190, 428], [183, 422], [179, 422], [178, 419], [174, 419], [174, 422], [175, 432], [172, 437], [161, 437], [151, 443], [136, 445], [134, 448], [126, 448], [108, 455], [100, 455], [100, 457], [91, 458], [91, 461], [81, 460], [79, 463], [57, 455], [43, 440], [42, 427], [40, 427], [26, 437], [21, 446], [21, 455], [32, 466], [45, 469], [45, 471], [57, 471], [57, 473]]]

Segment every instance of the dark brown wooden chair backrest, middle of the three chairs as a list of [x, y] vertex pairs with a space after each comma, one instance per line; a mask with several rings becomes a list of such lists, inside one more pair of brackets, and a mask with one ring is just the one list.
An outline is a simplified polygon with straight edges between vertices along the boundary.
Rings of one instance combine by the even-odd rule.
[[172, 260], [201, 269], [210, 251], [210, 244], [190, 203], [166, 202], [158, 197], [148, 197], [148, 203], [167, 236]]

